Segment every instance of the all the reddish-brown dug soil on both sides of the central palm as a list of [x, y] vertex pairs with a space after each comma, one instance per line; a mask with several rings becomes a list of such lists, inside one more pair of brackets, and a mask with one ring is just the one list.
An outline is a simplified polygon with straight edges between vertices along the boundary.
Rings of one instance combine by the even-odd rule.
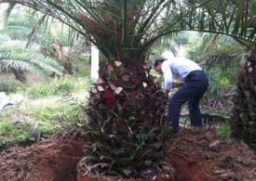
[[[66, 132], [29, 147], [6, 149], [0, 152], [0, 180], [115, 180], [77, 176], [84, 144], [83, 134]], [[183, 128], [169, 146], [173, 175], [155, 175], [150, 180], [256, 180], [255, 151], [243, 143], [222, 140], [215, 129]]]

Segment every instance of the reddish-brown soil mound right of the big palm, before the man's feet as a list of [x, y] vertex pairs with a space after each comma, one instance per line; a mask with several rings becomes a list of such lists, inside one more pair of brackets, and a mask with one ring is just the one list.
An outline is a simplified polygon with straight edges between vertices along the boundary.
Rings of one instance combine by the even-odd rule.
[[170, 142], [175, 180], [256, 180], [256, 154], [244, 143], [222, 140], [215, 129], [183, 129]]

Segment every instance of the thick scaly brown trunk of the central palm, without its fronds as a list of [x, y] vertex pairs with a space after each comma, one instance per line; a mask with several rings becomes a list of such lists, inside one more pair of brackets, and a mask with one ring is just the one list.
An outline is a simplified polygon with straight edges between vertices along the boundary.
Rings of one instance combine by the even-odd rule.
[[159, 84], [144, 66], [131, 62], [104, 63], [100, 70], [87, 109], [87, 157], [79, 165], [98, 165], [95, 173], [125, 177], [157, 172], [170, 136], [162, 126], [167, 99]]

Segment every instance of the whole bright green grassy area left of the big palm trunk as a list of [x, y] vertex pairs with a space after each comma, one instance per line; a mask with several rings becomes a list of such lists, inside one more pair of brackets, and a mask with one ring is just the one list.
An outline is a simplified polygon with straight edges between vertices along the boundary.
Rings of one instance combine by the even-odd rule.
[[[20, 89], [25, 97], [23, 102], [14, 109], [1, 111], [0, 149], [34, 143], [39, 137], [44, 139], [65, 129], [83, 126], [87, 118], [81, 105], [86, 105], [89, 84], [88, 79], [65, 78]], [[41, 94], [38, 92], [41, 88], [51, 94]], [[63, 96], [72, 97], [77, 104], [68, 99], [63, 101]]]

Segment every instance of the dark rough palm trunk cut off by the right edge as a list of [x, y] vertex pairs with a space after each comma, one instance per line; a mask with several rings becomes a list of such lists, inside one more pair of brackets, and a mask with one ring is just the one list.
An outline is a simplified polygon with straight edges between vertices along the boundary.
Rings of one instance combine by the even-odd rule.
[[235, 103], [233, 136], [256, 149], [256, 47], [238, 75]]

